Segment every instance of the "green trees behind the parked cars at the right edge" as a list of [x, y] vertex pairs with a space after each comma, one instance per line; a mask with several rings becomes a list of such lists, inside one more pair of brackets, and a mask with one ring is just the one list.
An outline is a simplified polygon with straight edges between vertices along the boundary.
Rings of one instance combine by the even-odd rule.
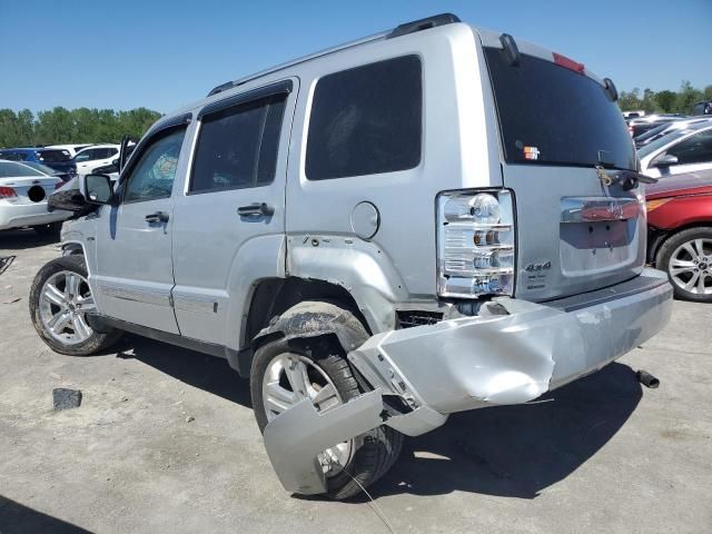
[[712, 100], [712, 86], [695, 89], [689, 81], [683, 81], [679, 91], [641, 91], [637, 87], [632, 91], [621, 91], [619, 106], [623, 111], [644, 109], [646, 113], [690, 115], [700, 100]]

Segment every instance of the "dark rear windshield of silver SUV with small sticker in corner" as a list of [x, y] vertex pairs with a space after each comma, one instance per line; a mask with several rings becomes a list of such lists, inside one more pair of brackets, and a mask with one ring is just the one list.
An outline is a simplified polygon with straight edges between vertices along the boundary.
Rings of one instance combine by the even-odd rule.
[[522, 55], [513, 67], [485, 48], [510, 164], [635, 169], [635, 150], [619, 106], [596, 81]]

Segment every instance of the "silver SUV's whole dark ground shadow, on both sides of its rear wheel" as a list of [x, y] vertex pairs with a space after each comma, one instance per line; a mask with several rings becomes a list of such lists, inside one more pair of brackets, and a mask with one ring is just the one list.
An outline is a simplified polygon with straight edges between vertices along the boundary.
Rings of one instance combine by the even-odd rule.
[[[134, 354], [119, 357], [138, 359], [186, 384], [250, 406], [248, 382], [224, 359], [137, 336], [127, 336], [123, 344]], [[377, 497], [462, 491], [534, 498], [602, 448], [641, 396], [635, 373], [614, 363], [536, 404], [454, 414], [445, 426], [406, 438], [400, 459], [370, 493]]]

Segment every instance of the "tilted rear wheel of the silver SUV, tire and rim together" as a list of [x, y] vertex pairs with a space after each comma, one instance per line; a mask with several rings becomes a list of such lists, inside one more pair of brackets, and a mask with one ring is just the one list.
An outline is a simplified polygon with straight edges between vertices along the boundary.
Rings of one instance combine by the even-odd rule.
[[[363, 392], [340, 347], [327, 338], [277, 339], [255, 354], [250, 372], [255, 417], [260, 432], [291, 406], [309, 398], [317, 412], [340, 406]], [[403, 435], [382, 425], [317, 455], [326, 495], [345, 500], [380, 478], [395, 463]]]

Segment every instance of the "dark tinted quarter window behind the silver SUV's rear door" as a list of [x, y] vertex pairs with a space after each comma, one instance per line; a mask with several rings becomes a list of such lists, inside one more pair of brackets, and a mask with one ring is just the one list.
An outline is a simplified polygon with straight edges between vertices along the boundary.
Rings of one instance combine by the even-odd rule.
[[421, 162], [423, 81], [417, 56], [322, 78], [307, 139], [310, 180], [393, 172]]

